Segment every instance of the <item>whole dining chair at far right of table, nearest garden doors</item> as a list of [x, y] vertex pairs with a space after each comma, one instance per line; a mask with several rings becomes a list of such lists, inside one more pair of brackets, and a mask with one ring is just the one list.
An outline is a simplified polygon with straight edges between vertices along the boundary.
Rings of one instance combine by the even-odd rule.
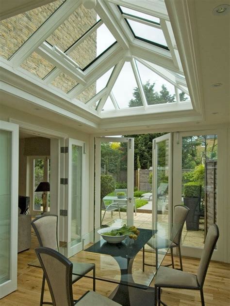
[[[180, 230], [178, 231], [176, 236], [174, 237], [174, 230], [172, 228], [171, 240], [169, 239], [165, 241], [165, 239], [161, 239], [161, 237], [157, 236], [155, 238], [151, 238], [148, 241], [147, 245], [151, 246], [151, 248], [153, 248], [156, 252], [156, 266], [158, 265], [158, 250], [170, 247], [172, 263], [168, 264], [167, 266], [172, 265], [174, 269], [173, 248], [178, 247], [180, 266], [181, 266], [180, 270], [183, 271], [182, 259], [181, 259], [181, 234], [188, 212], [189, 208], [187, 206], [176, 205], [174, 207], [173, 223], [181, 224]], [[145, 270], [145, 265], [152, 266], [152, 264], [148, 264], [145, 262], [145, 247], [143, 247], [143, 264], [142, 264], [143, 271]]]

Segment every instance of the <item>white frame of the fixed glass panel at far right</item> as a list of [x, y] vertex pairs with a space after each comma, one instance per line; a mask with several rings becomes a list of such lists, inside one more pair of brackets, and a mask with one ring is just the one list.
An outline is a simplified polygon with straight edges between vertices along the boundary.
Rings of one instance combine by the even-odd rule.
[[[182, 178], [182, 159], [181, 146], [182, 137], [200, 136], [200, 135], [217, 135], [218, 153], [217, 153], [217, 225], [219, 227], [220, 236], [217, 242], [217, 249], [214, 250], [212, 259], [219, 261], [227, 261], [228, 248], [228, 148], [227, 148], [227, 129], [210, 129], [199, 131], [175, 132], [174, 134], [174, 163], [173, 163], [173, 203], [174, 206], [181, 203], [181, 178]], [[184, 256], [200, 258], [202, 248], [182, 246], [181, 252]]]

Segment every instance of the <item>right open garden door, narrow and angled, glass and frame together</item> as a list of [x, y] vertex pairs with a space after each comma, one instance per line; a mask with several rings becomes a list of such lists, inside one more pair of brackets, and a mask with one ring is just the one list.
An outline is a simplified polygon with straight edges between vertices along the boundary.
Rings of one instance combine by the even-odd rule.
[[153, 140], [153, 221], [172, 221], [171, 134]]

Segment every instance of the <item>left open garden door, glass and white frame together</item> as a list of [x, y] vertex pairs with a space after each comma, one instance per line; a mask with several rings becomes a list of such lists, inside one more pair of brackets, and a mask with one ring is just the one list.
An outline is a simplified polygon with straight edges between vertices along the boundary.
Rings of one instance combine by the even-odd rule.
[[133, 223], [133, 145], [133, 138], [96, 138], [96, 227]]

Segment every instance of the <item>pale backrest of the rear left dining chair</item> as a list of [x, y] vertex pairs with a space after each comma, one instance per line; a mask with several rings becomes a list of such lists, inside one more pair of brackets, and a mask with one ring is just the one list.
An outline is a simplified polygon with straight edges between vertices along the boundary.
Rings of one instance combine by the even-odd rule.
[[57, 239], [58, 216], [55, 214], [44, 214], [31, 222], [40, 246], [58, 249]]

